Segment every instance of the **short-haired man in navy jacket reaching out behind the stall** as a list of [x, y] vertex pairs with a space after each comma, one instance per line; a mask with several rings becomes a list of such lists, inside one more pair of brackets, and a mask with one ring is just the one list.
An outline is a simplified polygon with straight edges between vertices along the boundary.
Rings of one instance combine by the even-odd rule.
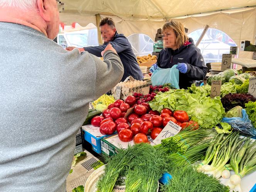
[[[123, 34], [118, 34], [116, 32], [114, 21], [111, 18], [106, 17], [101, 20], [99, 26], [104, 40], [104, 45], [79, 48], [79, 51], [88, 51], [97, 57], [101, 57], [101, 52], [110, 43], [118, 53], [118, 56], [120, 57], [125, 69], [121, 81], [124, 81], [128, 76], [132, 76], [136, 80], [143, 80], [144, 77], [140, 66], [138, 65], [135, 54], [131, 49], [131, 44]], [[67, 47], [67, 51], [72, 51], [74, 48], [76, 47]]]

